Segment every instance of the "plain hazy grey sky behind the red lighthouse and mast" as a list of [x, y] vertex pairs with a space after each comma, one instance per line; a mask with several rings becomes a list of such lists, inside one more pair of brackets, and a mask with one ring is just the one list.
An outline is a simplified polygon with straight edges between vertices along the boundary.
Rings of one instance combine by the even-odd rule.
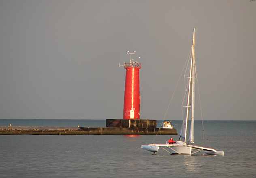
[[[0, 118], [122, 119], [117, 65], [136, 49], [141, 116], [162, 119], [193, 27], [204, 119], [256, 120], [250, 0], [0, 0]], [[181, 119], [183, 92], [167, 119]]]

